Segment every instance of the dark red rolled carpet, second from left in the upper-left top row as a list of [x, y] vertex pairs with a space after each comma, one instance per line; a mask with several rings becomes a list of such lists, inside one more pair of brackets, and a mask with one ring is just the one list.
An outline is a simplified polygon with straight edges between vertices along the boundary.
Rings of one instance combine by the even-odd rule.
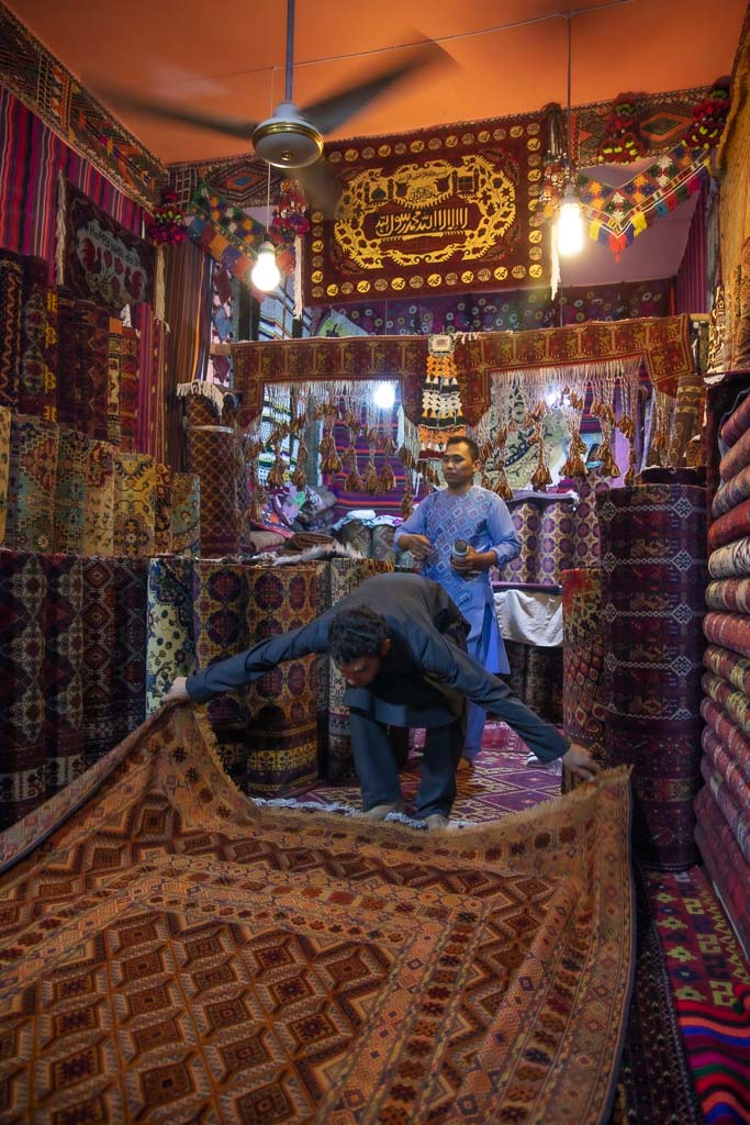
[[56, 420], [57, 295], [42, 258], [24, 258], [17, 410]]

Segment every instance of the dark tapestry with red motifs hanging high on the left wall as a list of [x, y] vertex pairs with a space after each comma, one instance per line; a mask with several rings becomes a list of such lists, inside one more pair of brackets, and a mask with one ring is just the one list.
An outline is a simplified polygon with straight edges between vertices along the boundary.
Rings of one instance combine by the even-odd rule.
[[154, 250], [65, 182], [64, 284], [79, 297], [105, 303], [119, 313], [124, 305], [148, 300]]

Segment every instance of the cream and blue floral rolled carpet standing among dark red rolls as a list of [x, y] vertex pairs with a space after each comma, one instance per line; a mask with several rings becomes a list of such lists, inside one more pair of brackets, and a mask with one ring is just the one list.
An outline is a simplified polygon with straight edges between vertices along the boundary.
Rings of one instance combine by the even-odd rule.
[[146, 714], [151, 714], [175, 676], [196, 670], [192, 559], [150, 559], [147, 582]]

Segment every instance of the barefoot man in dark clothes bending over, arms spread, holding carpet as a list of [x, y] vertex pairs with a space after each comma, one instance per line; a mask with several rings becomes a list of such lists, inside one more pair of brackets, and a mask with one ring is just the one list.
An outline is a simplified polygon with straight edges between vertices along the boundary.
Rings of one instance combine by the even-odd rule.
[[417, 816], [428, 828], [448, 824], [455, 770], [466, 737], [466, 701], [507, 722], [544, 762], [562, 758], [584, 780], [599, 771], [515, 699], [510, 688], [467, 652], [469, 623], [442, 586], [416, 574], [381, 574], [307, 626], [261, 641], [246, 652], [178, 676], [165, 702], [205, 703], [259, 680], [284, 660], [328, 652], [347, 683], [352, 749], [365, 814], [403, 808], [398, 763], [388, 727], [425, 727]]

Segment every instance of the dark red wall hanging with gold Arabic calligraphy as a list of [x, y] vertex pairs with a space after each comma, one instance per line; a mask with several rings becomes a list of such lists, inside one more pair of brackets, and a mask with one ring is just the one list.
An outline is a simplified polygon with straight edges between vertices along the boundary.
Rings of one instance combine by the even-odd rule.
[[313, 212], [306, 305], [543, 286], [541, 114], [326, 145], [335, 219]]

